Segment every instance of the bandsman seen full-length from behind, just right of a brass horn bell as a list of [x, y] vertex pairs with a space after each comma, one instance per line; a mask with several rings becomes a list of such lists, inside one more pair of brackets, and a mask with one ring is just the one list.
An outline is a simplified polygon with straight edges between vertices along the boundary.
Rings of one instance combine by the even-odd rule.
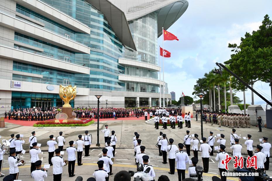
[[66, 152], [68, 153], [68, 173], [69, 177], [75, 176], [74, 171], [75, 171], [75, 149], [74, 147], [74, 141], [69, 141], [70, 147], [66, 148]]

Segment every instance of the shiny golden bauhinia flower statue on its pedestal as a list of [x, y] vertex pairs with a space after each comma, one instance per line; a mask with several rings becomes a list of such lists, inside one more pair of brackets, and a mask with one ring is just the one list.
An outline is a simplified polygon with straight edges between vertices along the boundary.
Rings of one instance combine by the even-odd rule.
[[77, 95], [76, 87], [69, 86], [62, 86], [59, 85], [59, 97], [64, 101], [64, 105], [62, 107], [71, 107], [69, 102], [75, 98]]

